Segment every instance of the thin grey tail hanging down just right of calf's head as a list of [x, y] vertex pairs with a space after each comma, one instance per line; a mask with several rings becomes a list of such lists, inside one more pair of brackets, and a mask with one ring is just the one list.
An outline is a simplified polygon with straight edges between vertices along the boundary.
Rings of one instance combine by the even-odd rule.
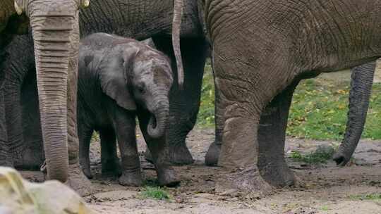
[[180, 88], [183, 87], [184, 82], [183, 59], [181, 58], [180, 49], [181, 18], [183, 17], [183, 7], [183, 0], [174, 0], [174, 19], [172, 22], [172, 46], [174, 47], [174, 55], [177, 64], [177, 77]]

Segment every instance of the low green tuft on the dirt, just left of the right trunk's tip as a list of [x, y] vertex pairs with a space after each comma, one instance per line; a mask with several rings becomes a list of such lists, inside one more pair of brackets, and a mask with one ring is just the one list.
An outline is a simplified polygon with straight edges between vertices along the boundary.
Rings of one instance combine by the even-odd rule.
[[334, 148], [332, 146], [318, 147], [316, 151], [303, 155], [299, 151], [292, 151], [291, 158], [296, 161], [309, 163], [309, 164], [318, 164], [318, 163], [327, 163], [327, 160], [330, 160], [334, 154]]

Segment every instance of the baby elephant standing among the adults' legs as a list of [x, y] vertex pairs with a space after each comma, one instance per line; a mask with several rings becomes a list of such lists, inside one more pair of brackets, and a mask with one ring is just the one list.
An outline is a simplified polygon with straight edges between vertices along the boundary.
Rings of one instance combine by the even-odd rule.
[[[169, 120], [169, 89], [173, 82], [169, 58], [134, 39], [97, 33], [81, 40], [78, 72], [78, 135], [80, 163], [90, 173], [92, 132], [99, 131], [103, 172], [119, 173], [119, 183], [140, 186], [140, 160], [135, 117], [154, 156], [159, 184], [178, 184], [166, 161], [165, 130]], [[121, 165], [116, 156], [116, 139]]]

